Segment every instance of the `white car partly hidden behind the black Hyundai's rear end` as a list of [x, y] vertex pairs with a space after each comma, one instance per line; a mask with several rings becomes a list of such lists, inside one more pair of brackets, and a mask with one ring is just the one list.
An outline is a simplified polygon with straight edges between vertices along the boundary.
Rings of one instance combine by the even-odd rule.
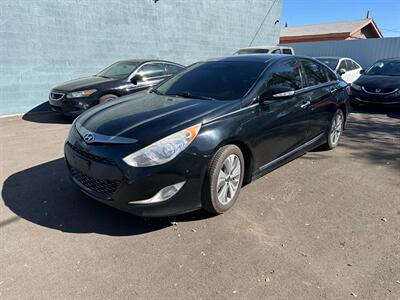
[[342, 77], [347, 83], [352, 83], [360, 77], [363, 68], [359, 63], [347, 57], [316, 57]]

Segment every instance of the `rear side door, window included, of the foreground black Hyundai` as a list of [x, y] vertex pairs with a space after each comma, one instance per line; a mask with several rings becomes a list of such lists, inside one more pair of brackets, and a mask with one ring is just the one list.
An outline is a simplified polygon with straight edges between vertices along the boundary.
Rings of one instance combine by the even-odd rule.
[[309, 117], [307, 140], [323, 135], [329, 128], [337, 106], [339, 82], [327, 67], [312, 60], [301, 60], [305, 89], [303, 95], [310, 105], [306, 113]]

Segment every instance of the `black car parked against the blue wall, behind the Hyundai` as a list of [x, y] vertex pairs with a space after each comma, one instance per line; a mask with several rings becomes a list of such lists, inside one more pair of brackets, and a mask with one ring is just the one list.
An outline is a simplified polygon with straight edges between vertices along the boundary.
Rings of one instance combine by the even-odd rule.
[[49, 102], [54, 111], [79, 115], [99, 103], [148, 89], [183, 68], [180, 64], [162, 60], [118, 61], [97, 75], [53, 88]]

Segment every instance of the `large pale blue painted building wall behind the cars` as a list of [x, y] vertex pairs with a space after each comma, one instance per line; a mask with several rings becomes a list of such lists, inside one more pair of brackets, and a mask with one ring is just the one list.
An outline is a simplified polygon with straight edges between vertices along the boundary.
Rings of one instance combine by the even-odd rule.
[[51, 87], [119, 59], [182, 64], [277, 44], [281, 0], [1, 0], [0, 115], [26, 112]]

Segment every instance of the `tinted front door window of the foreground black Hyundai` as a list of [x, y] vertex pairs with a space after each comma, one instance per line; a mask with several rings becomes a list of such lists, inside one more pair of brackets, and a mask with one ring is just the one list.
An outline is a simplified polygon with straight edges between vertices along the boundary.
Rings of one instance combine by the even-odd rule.
[[271, 70], [266, 89], [273, 87], [290, 87], [299, 90], [303, 87], [301, 81], [301, 69], [296, 60], [274, 66]]

